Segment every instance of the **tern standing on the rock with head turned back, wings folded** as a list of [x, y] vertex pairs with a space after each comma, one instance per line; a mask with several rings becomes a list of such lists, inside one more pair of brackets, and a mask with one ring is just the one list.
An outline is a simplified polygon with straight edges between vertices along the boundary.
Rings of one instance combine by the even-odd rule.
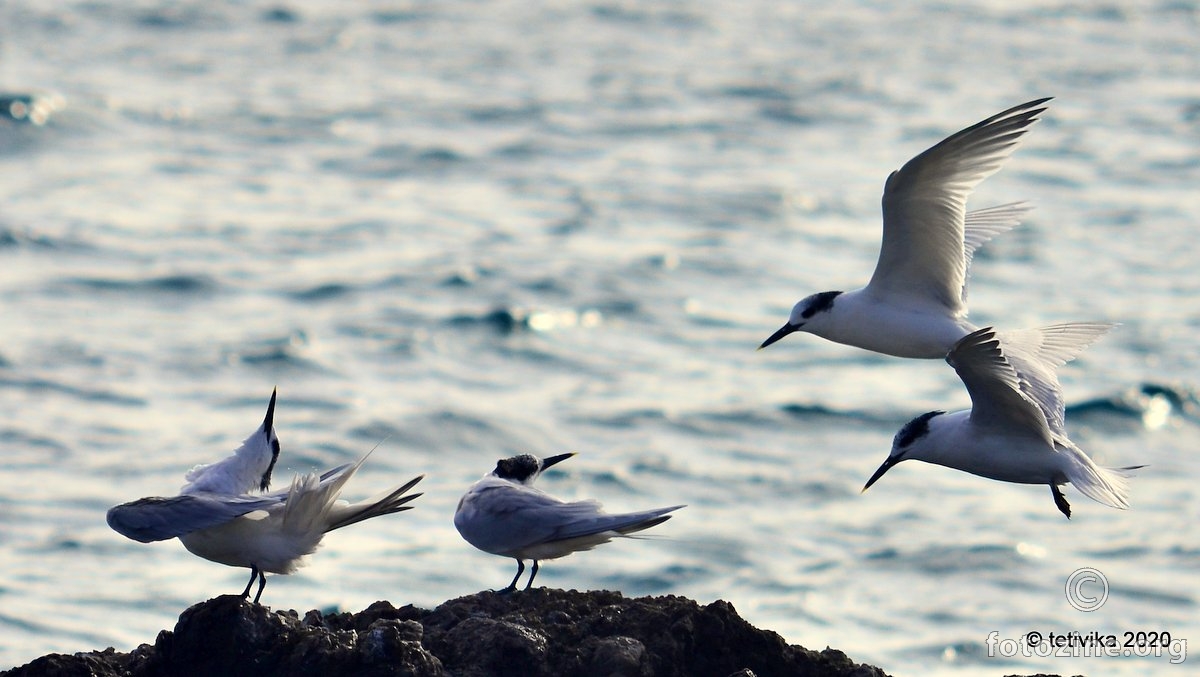
[[470, 545], [517, 561], [517, 575], [500, 592], [517, 589], [524, 561], [533, 570], [524, 589], [533, 586], [540, 559], [556, 559], [608, 543], [671, 519], [683, 508], [672, 505], [641, 513], [610, 515], [595, 501], [564, 502], [533, 486], [546, 468], [570, 459], [562, 454], [539, 459], [529, 454], [502, 459], [458, 501], [454, 526]]

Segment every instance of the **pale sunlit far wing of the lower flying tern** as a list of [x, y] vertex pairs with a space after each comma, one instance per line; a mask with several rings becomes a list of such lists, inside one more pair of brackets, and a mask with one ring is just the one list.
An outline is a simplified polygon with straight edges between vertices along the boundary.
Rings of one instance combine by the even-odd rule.
[[1001, 345], [1020, 379], [1021, 393], [1033, 400], [1056, 437], [1066, 437], [1066, 402], [1057, 370], [1116, 326], [1106, 322], [1072, 322], [1037, 329], [1000, 332]]

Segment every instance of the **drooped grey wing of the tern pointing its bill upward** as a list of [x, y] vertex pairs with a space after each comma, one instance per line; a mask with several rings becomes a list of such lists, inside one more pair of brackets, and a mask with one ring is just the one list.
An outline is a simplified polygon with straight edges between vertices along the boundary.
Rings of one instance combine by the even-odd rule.
[[278, 504], [280, 499], [270, 496], [155, 496], [109, 509], [108, 526], [126, 538], [151, 543], [216, 527]]

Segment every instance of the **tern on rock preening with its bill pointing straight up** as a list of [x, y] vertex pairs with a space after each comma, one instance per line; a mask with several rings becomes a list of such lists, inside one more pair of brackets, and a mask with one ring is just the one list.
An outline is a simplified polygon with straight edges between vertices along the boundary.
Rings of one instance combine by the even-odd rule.
[[229, 567], [250, 568], [258, 580], [258, 604], [265, 574], [292, 574], [304, 565], [322, 538], [362, 520], [410, 510], [408, 493], [424, 475], [359, 503], [338, 501], [342, 487], [371, 454], [323, 474], [296, 475], [292, 486], [266, 493], [280, 455], [275, 435], [275, 396], [266, 418], [253, 435], [227, 459], [196, 466], [179, 496], [140, 498], [108, 511], [108, 526], [140, 543], [179, 538], [193, 555]]

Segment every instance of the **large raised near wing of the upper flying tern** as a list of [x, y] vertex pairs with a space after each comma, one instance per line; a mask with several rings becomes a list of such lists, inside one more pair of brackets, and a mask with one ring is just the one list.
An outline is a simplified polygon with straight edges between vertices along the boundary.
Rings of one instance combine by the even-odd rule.
[[967, 197], [1000, 169], [1046, 101], [1022, 103], [954, 133], [888, 176], [883, 242], [866, 286], [871, 295], [898, 306], [936, 304], [954, 316], [966, 312]]

